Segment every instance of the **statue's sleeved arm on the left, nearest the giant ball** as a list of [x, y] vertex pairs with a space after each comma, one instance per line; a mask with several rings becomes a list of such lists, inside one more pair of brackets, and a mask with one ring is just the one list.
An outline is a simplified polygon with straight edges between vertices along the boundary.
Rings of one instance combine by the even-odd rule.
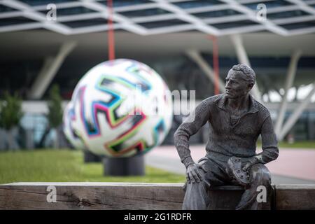
[[190, 155], [189, 138], [196, 134], [200, 128], [209, 120], [209, 105], [204, 100], [190, 114], [188, 119], [184, 120], [174, 134], [174, 144], [181, 158], [181, 162], [187, 168], [194, 164], [193, 158]]

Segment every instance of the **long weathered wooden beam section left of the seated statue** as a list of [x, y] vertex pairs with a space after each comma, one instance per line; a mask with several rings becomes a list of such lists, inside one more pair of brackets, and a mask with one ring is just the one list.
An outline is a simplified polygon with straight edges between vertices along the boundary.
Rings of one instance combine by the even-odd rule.
[[[48, 202], [55, 186], [57, 202]], [[0, 186], [0, 209], [181, 209], [182, 184], [13, 183]]]

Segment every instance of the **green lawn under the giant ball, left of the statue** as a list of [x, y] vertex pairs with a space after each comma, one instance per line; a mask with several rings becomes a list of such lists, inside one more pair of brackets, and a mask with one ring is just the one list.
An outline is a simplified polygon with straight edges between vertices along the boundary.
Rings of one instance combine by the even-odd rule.
[[153, 167], [145, 176], [103, 176], [102, 163], [85, 164], [82, 152], [65, 149], [0, 153], [0, 183], [29, 181], [184, 183], [185, 176]]

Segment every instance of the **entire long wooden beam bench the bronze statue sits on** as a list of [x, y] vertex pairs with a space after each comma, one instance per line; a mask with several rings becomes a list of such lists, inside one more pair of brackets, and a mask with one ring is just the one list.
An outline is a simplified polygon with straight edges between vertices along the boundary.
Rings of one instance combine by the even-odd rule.
[[[181, 209], [182, 183], [8, 183], [0, 185], [0, 209]], [[315, 209], [315, 185], [273, 186], [271, 209]], [[55, 200], [52, 197], [55, 191]], [[235, 209], [244, 190], [209, 190], [211, 209]]]

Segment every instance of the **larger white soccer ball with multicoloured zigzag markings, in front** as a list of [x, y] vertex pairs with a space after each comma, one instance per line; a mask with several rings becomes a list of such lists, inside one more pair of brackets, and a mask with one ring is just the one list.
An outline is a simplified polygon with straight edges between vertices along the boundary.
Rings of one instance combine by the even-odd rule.
[[116, 59], [94, 66], [71, 99], [71, 124], [94, 154], [129, 157], [165, 139], [172, 125], [172, 96], [146, 64]]

